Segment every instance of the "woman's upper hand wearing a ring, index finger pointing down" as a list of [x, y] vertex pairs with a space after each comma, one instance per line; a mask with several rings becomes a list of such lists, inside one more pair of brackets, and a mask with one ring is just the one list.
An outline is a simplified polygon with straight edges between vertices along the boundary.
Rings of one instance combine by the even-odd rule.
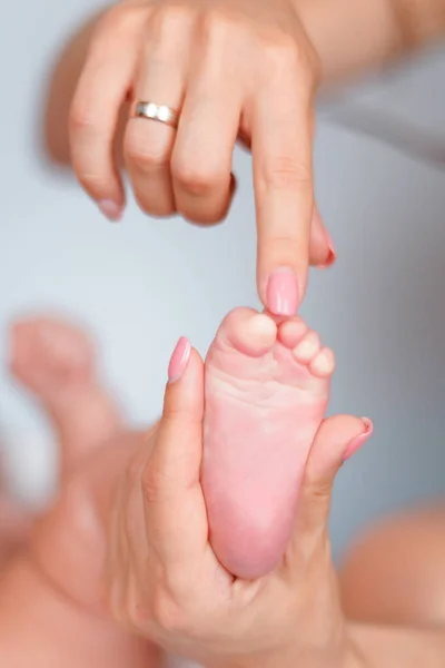
[[[123, 153], [154, 216], [210, 224], [234, 194], [237, 138], [251, 147], [258, 293], [293, 315], [314, 264], [334, 249], [314, 208], [312, 145], [318, 59], [295, 0], [125, 0], [95, 31], [70, 112], [80, 183], [118, 219], [125, 193], [113, 138], [126, 99], [167, 105], [179, 125], [131, 118]], [[315, 213], [314, 213], [315, 212]]]

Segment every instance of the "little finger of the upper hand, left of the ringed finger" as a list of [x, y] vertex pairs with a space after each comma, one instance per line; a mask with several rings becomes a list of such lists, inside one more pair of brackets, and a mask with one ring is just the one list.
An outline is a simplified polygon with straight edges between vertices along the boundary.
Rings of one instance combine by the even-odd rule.
[[112, 220], [121, 217], [125, 206], [113, 137], [132, 85], [144, 19], [140, 7], [118, 6], [107, 12], [91, 40], [70, 109], [73, 169], [87, 193]]

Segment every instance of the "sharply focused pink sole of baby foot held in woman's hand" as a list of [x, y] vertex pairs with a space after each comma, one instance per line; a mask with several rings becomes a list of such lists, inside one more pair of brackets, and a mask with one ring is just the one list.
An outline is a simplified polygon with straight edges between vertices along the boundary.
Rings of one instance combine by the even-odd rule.
[[201, 482], [212, 548], [237, 577], [261, 577], [283, 558], [334, 365], [301, 320], [277, 325], [247, 308], [211, 344]]

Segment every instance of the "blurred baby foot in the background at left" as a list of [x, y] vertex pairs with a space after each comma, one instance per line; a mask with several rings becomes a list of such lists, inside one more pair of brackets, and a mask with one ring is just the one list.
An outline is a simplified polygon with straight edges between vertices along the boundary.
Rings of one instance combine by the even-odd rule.
[[118, 410], [97, 377], [93, 346], [83, 332], [36, 317], [16, 323], [11, 340], [11, 371], [48, 411], [65, 464], [116, 433]]

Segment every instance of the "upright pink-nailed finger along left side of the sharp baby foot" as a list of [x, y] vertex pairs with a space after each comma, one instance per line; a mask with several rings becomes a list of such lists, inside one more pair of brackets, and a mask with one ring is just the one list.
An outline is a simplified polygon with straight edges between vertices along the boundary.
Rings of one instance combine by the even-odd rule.
[[180, 338], [171, 357], [164, 413], [142, 472], [147, 536], [162, 568], [195, 572], [207, 547], [207, 514], [199, 483], [204, 365]]

